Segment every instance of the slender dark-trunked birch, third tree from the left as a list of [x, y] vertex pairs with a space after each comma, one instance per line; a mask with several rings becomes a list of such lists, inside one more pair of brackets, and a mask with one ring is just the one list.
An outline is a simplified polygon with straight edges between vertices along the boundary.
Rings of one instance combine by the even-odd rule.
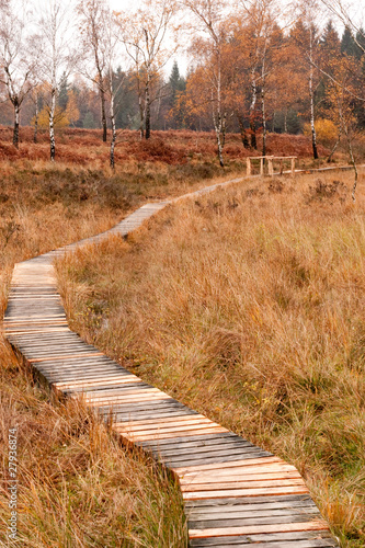
[[[103, 141], [106, 142], [107, 124], [105, 102], [110, 28], [105, 25], [110, 21], [110, 10], [105, 0], [81, 0], [78, 3], [77, 11], [80, 18], [79, 31], [83, 52], [82, 65], [80, 64], [79, 70], [85, 75], [99, 90]], [[92, 68], [88, 67], [85, 59], [90, 59]]]

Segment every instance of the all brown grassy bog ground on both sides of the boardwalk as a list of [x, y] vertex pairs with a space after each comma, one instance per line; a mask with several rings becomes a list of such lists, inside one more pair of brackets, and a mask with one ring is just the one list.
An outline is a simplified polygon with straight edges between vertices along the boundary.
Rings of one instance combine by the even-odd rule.
[[[174, 150], [172, 136], [168, 145]], [[144, 146], [136, 141], [138, 153]], [[128, 155], [115, 173], [87, 141], [84, 165], [72, 157], [56, 165], [4, 160], [3, 306], [15, 261], [100, 232], [145, 199], [240, 173], [240, 159], [221, 175], [194, 146], [192, 135], [176, 163], [171, 151], [169, 159], [149, 151], [144, 164]], [[295, 464], [342, 545], [360, 547], [363, 179], [355, 205], [351, 184], [340, 172], [256, 179], [175, 205], [127, 242], [89, 248], [58, 269], [75, 329]], [[22, 424], [24, 546], [75, 538], [76, 546], [119, 546], [121, 536], [126, 546], [183, 546], [180, 495], [169, 480], [151, 463], [130, 460], [83, 409], [49, 404], [46, 388], [1, 347], [2, 435], [11, 421]]]

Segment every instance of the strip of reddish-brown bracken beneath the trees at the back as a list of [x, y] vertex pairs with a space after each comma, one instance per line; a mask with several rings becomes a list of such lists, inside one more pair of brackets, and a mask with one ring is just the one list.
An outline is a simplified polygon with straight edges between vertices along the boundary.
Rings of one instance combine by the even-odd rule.
[[[38, 142], [33, 142], [33, 128], [22, 127], [19, 150], [12, 146], [12, 128], [0, 126], [0, 161], [12, 163], [37, 160], [41, 164], [49, 159], [49, 137], [41, 132]], [[259, 139], [260, 140], [260, 139]], [[312, 161], [310, 139], [304, 135], [267, 135], [267, 155], [297, 156], [298, 165], [317, 165]], [[246, 149], [238, 134], [227, 134], [224, 150], [227, 168], [237, 169], [248, 156], [260, 156], [260, 150]], [[319, 145], [321, 159], [329, 150]], [[98, 129], [59, 129], [56, 135], [56, 159], [58, 162], [91, 169], [104, 169], [109, 165], [110, 144], [101, 140]], [[337, 152], [335, 159], [343, 161], [343, 151]], [[216, 136], [214, 132], [168, 130], [152, 132], [150, 140], [140, 140], [138, 132], [118, 132], [116, 165], [150, 162], [166, 165], [190, 163], [209, 163], [218, 167]]]

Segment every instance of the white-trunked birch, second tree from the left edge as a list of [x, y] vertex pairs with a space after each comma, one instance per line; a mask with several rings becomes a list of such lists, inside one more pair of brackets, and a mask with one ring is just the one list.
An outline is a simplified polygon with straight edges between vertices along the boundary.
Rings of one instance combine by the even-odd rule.
[[71, 7], [61, 0], [43, 4], [39, 30], [42, 34], [41, 73], [44, 80], [44, 100], [48, 110], [50, 161], [56, 158], [55, 113], [61, 79], [75, 68], [78, 55], [70, 38]]

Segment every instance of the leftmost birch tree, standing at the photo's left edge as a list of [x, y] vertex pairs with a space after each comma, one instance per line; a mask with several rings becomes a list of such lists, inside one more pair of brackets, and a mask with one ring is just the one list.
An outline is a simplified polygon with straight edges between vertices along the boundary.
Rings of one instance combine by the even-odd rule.
[[30, 18], [24, 5], [19, 9], [14, 2], [0, 3], [0, 81], [14, 110], [13, 145], [16, 148], [21, 107], [35, 85], [39, 52], [39, 41], [28, 32]]

